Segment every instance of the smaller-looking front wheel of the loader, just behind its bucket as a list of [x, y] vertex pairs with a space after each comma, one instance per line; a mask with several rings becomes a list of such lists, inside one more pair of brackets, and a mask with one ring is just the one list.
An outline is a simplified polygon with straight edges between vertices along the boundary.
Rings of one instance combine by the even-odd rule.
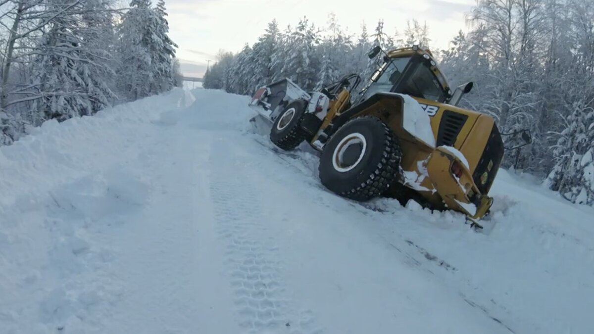
[[[304, 100], [289, 103], [274, 120], [270, 129], [270, 141], [286, 151], [294, 150], [299, 146], [307, 138], [307, 132], [301, 127], [306, 105]], [[287, 114], [289, 112], [293, 114]], [[283, 118], [285, 115], [287, 116]]]

